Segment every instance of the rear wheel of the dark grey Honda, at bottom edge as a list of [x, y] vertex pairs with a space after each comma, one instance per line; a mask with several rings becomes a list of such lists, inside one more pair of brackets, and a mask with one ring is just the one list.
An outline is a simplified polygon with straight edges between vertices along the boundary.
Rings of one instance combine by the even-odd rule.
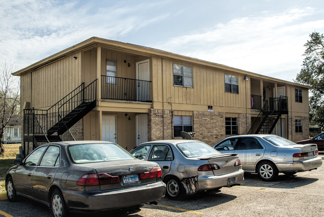
[[59, 189], [55, 189], [51, 196], [51, 211], [54, 217], [65, 217], [67, 213], [63, 195]]

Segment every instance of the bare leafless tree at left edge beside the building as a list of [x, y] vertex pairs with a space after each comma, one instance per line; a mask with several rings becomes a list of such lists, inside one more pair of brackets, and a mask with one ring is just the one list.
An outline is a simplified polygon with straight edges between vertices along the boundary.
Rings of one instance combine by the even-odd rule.
[[12, 75], [15, 67], [6, 61], [0, 64], [0, 157], [4, 156], [2, 137], [8, 121], [20, 114], [20, 82]]

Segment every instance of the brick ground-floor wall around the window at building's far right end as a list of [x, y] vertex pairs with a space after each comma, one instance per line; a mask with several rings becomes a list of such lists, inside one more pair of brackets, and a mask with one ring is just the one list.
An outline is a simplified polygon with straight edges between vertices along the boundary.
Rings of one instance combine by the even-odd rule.
[[[302, 130], [301, 133], [296, 133], [295, 130], [295, 116], [289, 116], [288, 117], [288, 139], [297, 142], [300, 140], [309, 139], [309, 118], [308, 117], [302, 117]], [[300, 119], [300, 117], [298, 117]]]

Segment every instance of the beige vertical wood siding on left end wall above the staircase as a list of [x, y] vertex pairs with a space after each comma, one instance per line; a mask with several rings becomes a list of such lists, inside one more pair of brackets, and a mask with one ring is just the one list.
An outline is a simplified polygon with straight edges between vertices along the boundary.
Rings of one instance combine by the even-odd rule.
[[30, 95], [30, 106], [34, 108], [47, 108], [61, 100], [81, 84], [80, 57], [80, 52], [72, 54], [32, 71], [31, 80], [30, 73], [24, 75], [23, 98]]

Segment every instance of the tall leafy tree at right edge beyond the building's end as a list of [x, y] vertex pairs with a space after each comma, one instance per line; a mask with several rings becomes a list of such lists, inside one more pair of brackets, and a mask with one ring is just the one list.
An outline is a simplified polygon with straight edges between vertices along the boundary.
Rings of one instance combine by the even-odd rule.
[[309, 120], [324, 129], [324, 36], [319, 32], [309, 35], [302, 69], [295, 82], [313, 87], [309, 96]]

